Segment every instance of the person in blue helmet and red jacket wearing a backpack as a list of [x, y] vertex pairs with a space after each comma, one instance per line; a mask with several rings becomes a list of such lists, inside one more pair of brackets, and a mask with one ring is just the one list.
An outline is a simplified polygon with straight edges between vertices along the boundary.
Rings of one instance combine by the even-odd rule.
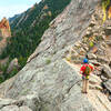
[[88, 93], [89, 90], [89, 77], [91, 71], [93, 71], [92, 64], [89, 64], [87, 58], [83, 59], [83, 65], [80, 69], [80, 73], [82, 74], [82, 93]]

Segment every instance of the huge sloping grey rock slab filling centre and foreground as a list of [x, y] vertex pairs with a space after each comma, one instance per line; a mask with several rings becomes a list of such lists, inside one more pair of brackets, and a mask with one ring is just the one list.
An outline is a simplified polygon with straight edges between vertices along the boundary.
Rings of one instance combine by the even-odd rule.
[[[27, 65], [0, 85], [0, 95], [3, 98], [0, 102], [1, 111], [10, 107], [18, 111], [24, 105], [32, 111], [99, 111], [98, 108], [111, 111], [110, 102], [100, 91], [97, 93], [91, 90], [89, 95], [81, 93], [79, 69], [63, 59], [70, 46], [84, 34], [97, 4], [98, 0], [72, 0], [50, 23]], [[91, 83], [99, 85], [100, 81], [97, 80], [92, 79]], [[34, 99], [27, 99], [28, 95]], [[23, 100], [21, 97], [24, 97]], [[4, 98], [12, 100], [6, 104]]]

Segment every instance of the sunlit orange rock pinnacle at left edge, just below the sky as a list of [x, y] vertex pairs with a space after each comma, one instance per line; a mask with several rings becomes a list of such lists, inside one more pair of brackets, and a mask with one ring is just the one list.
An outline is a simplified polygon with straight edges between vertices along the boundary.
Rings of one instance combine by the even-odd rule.
[[9, 21], [6, 18], [3, 18], [0, 21], [0, 37], [2, 38], [11, 37]]

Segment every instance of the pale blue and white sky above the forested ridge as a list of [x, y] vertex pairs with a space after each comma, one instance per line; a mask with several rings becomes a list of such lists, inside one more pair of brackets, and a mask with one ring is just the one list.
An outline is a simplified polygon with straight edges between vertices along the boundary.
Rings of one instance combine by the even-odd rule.
[[26, 11], [41, 0], [0, 0], [0, 20]]

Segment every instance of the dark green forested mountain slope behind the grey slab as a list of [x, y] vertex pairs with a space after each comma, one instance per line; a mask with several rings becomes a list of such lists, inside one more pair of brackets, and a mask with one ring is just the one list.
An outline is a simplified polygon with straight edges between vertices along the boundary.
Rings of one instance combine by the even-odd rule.
[[[49, 28], [49, 23], [70, 3], [71, 0], [42, 0], [26, 12], [10, 19], [12, 38], [8, 40], [8, 46], [3, 50], [0, 59], [9, 57], [12, 61], [18, 58], [20, 69], [27, 62], [29, 56], [41, 42], [43, 32]], [[12, 20], [12, 21], [11, 21]], [[11, 49], [11, 50], [10, 50]], [[10, 62], [9, 61], [9, 62]], [[2, 68], [3, 81], [17, 73], [14, 69], [10, 74]], [[0, 75], [2, 80], [2, 75]]]

